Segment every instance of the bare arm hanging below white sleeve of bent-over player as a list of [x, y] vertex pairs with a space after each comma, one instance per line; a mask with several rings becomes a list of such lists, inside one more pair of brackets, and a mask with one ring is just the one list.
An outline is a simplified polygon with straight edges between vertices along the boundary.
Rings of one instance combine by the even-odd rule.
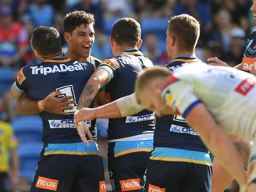
[[186, 116], [189, 126], [198, 131], [213, 155], [237, 179], [240, 186], [246, 185], [246, 174], [239, 154], [228, 137], [219, 127], [204, 104], [195, 106]]

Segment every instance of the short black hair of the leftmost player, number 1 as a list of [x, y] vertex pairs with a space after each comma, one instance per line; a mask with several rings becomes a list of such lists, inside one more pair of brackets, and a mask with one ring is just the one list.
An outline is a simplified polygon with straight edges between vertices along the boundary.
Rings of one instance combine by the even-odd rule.
[[59, 32], [48, 26], [38, 26], [32, 33], [31, 45], [41, 57], [48, 58], [61, 54], [61, 38]]

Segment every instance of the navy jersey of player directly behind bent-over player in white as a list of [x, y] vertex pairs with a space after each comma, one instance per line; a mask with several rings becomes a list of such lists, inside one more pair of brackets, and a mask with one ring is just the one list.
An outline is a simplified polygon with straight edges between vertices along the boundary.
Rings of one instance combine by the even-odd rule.
[[[197, 57], [179, 56], [170, 64], [164, 65], [175, 71], [183, 63], [202, 62]], [[195, 129], [186, 124], [181, 115], [165, 115], [156, 118], [156, 130], [154, 133], [154, 148], [167, 147], [184, 150], [203, 151], [208, 150], [202, 143]]]

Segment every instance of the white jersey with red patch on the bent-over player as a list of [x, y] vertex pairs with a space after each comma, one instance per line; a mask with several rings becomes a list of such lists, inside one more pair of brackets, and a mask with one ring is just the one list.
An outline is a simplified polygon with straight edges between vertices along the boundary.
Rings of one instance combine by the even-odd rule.
[[204, 103], [226, 133], [251, 140], [256, 130], [255, 85], [256, 77], [241, 70], [191, 63], [173, 73], [162, 97], [184, 118]]

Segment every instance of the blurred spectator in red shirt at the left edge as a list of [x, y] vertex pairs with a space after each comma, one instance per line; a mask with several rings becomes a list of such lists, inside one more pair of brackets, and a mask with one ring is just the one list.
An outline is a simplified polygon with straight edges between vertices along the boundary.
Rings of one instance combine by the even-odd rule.
[[27, 31], [13, 21], [11, 7], [0, 7], [0, 66], [18, 66], [28, 44]]

